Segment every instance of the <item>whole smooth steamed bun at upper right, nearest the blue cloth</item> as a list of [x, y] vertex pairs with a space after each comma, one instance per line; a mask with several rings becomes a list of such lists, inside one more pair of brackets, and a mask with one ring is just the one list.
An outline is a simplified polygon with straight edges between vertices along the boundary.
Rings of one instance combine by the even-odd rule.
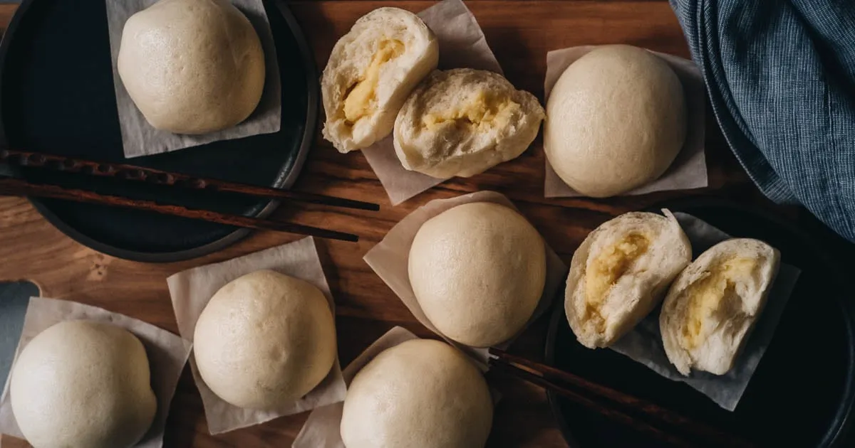
[[645, 49], [608, 45], [571, 64], [546, 102], [544, 150], [582, 195], [608, 197], [651, 183], [686, 141], [680, 79]]

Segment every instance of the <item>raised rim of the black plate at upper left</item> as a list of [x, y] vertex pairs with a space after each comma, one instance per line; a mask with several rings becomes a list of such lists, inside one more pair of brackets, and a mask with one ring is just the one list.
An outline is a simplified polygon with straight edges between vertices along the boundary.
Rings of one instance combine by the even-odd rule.
[[[12, 37], [15, 35], [15, 32], [18, 30], [18, 27], [21, 26], [21, 20], [23, 20], [23, 17], [25, 15], [27, 15], [27, 10], [30, 9], [32, 3], [36, 1], [37, 0], [23, 0], [18, 9], [15, 10], [15, 15], [12, 16], [12, 20], [9, 21], [9, 26], [6, 28], [6, 32], [3, 33], [3, 40], [0, 41], [0, 85], [3, 84], [3, 67], [5, 67], [6, 65], [7, 54], [9, 53], [9, 45], [10, 42], [14, 40]], [[311, 148], [311, 145], [315, 139], [319, 108], [318, 92], [320, 90], [320, 86], [318, 84], [315, 55], [310, 49], [309, 41], [305, 37], [303, 28], [299, 26], [297, 19], [294, 17], [291, 12], [291, 9], [289, 9], [286, 4], [282, 3], [281, 0], [274, 0], [274, 3], [275, 8], [285, 18], [286, 23], [288, 24], [288, 27], [290, 28], [292, 35], [294, 36], [294, 39], [297, 41], [300, 54], [302, 55], [304, 61], [304, 70], [306, 72], [306, 87], [308, 90], [306, 123], [304, 127], [303, 137], [300, 141], [300, 146], [298, 148], [297, 158], [296, 160], [294, 160], [294, 165], [292, 166], [292, 169], [287, 172], [285, 176], [282, 176], [282, 173], [280, 172], [280, 176], [272, 185], [275, 188], [289, 189], [291, 188], [293, 183], [297, 181], [297, 177], [303, 169], [303, 165], [309, 153], [309, 149]], [[2, 104], [2, 102], [0, 102], [0, 104]], [[0, 142], [6, 144], [6, 133], [3, 126], [2, 107], [0, 107]], [[148, 263], [168, 263], [174, 261], [183, 261], [186, 259], [195, 259], [204, 255], [208, 255], [209, 253], [215, 253], [225, 247], [229, 247], [234, 243], [242, 240], [246, 236], [250, 235], [251, 232], [250, 229], [236, 229], [233, 232], [229, 233], [227, 236], [223, 236], [216, 241], [211, 241], [208, 244], [204, 244], [202, 246], [192, 247], [190, 249], [180, 251], [157, 253], [141, 252], [122, 247], [115, 247], [102, 241], [97, 241], [91, 236], [86, 236], [79, 230], [76, 230], [72, 225], [66, 223], [61, 218], [56, 216], [56, 213], [52, 212], [50, 210], [50, 207], [47, 207], [43, 201], [32, 197], [27, 197], [27, 200], [32, 203], [32, 207], [34, 207], [45, 219], [47, 219], [50, 224], [52, 224], [54, 227], [56, 227], [57, 230], [60, 230], [63, 234], [73, 239], [74, 241], [79, 242], [85, 247], [90, 247], [91, 249], [94, 249], [97, 252], [105, 253], [107, 255], [131, 261], [142, 261]], [[268, 204], [262, 207], [262, 209], [255, 213], [253, 216], [257, 218], [265, 218], [270, 215], [270, 213], [274, 212], [276, 207], [279, 207], [279, 204], [280, 201], [268, 201]]]

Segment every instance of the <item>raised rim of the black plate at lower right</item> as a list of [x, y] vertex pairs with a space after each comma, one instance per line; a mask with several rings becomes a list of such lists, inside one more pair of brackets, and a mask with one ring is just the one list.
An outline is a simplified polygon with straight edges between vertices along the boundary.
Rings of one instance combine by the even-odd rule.
[[[813, 252], [817, 256], [817, 259], [823, 260], [824, 264], [833, 265], [827, 256], [825, 256], [823, 253], [816, 249], [816, 247], [818, 246], [812, 244], [814, 238], [811, 238], [811, 236], [806, 234], [805, 231], [799, 230], [799, 228], [795, 227], [793, 224], [790, 224], [787, 221], [784, 221], [769, 212], [763, 212], [756, 208], [746, 207], [733, 201], [725, 201], [714, 198], [683, 198], [672, 201], [665, 201], [663, 203], [657, 204], [654, 207], [646, 209], [646, 211], [658, 212], [663, 208], [674, 208], [675, 210], [679, 211], [681, 207], [686, 207], [689, 205], [693, 207], [730, 207], [734, 211], [746, 212], [758, 216], [760, 218], [768, 219], [776, 225], [779, 225], [782, 228], [786, 229], [794, 236], [797, 236], [800, 240], [807, 242], [808, 244], [805, 247], [811, 247], [811, 252]], [[834, 282], [836, 282], [840, 286], [846, 284], [840, 278], [839, 271], [834, 270], [832, 272], [832, 278], [834, 279]], [[560, 294], [560, 297], [561, 300], [557, 300], [557, 304], [554, 305], [554, 309], [552, 310], [552, 315], [550, 317], [549, 328], [546, 330], [544, 359], [546, 364], [549, 365], [555, 364], [555, 342], [557, 339], [558, 323], [560, 323], [561, 319], [564, 317], [563, 294]], [[847, 367], [849, 369], [849, 372], [852, 373], [855, 372], [855, 305], [852, 305], [848, 301], [843, 300], [841, 297], [837, 299], [836, 302], [837, 305], [840, 306], [841, 311], [843, 311], [843, 320], [846, 324], [846, 335], [849, 338], [849, 360], [847, 363]], [[817, 445], [819, 447], [824, 448], [840, 446], [840, 444], [843, 442], [843, 436], [846, 435], [847, 429], [852, 425], [852, 409], [853, 407], [855, 407], [855, 375], [847, 375], [847, 378], [849, 380], [844, 386], [844, 398], [840, 401], [837, 413], [834, 415], [834, 422], [832, 422], [833, 428], [828, 428], [828, 431], [825, 433], [823, 440], [819, 443], [819, 445]], [[557, 393], [546, 391], [546, 399], [549, 401], [549, 407], [551, 409], [552, 416], [555, 418], [558, 430], [561, 432], [564, 441], [566, 441], [571, 448], [584, 448], [578, 442], [578, 440], [575, 439], [573, 431], [567, 423], [567, 418], [563, 415], [561, 406], [558, 403], [558, 400], [561, 399], [561, 397], [559, 397]]]

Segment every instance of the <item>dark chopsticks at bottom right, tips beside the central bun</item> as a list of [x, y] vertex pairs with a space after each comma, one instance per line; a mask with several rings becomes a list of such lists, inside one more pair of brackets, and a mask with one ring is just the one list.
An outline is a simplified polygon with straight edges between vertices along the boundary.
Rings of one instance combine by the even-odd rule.
[[[576, 404], [581, 404], [588, 410], [598, 412], [602, 416], [633, 428], [640, 433], [651, 435], [669, 445], [687, 448], [697, 446], [748, 448], [754, 446], [732, 434], [724, 433], [701, 422], [695, 422], [672, 410], [663, 409], [657, 404], [618, 392], [609, 387], [600, 386], [561, 369], [511, 355], [497, 348], [490, 349], [490, 358], [487, 364], [491, 370], [515, 376], [543, 387]], [[652, 423], [656, 423], [657, 426], [653, 426]], [[672, 430], [663, 428], [671, 428]], [[693, 443], [685, 437], [702, 442]]]

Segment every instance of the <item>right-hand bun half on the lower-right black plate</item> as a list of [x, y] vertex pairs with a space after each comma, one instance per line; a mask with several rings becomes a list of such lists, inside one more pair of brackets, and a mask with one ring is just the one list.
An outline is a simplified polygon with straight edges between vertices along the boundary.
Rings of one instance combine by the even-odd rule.
[[745, 345], [775, 281], [780, 255], [763, 241], [722, 241], [671, 285], [659, 315], [665, 354], [683, 375], [724, 375]]

